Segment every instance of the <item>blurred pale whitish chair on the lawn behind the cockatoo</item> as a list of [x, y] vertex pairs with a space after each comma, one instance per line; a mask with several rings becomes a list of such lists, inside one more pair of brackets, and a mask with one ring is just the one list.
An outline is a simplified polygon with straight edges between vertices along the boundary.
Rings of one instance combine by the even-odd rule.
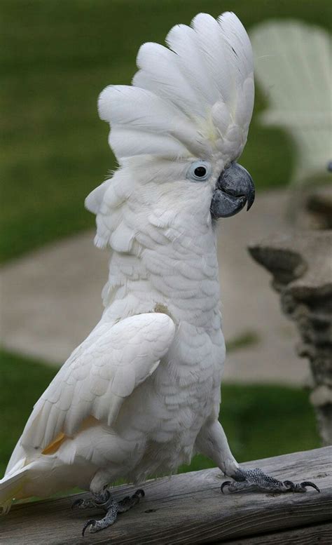
[[261, 121], [284, 128], [295, 144], [291, 182], [322, 180], [332, 159], [331, 36], [297, 20], [269, 20], [250, 39], [268, 101]]

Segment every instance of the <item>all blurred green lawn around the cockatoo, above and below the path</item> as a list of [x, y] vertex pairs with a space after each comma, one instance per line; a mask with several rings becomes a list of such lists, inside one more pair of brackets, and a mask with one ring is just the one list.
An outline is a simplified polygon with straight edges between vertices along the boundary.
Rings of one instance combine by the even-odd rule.
[[[326, 0], [1, 0], [1, 262], [94, 226], [83, 201], [115, 166], [109, 128], [97, 116], [99, 92], [130, 83], [144, 41], [163, 43], [172, 25], [200, 11], [228, 10], [248, 30], [268, 18], [331, 22]], [[292, 154], [282, 130], [259, 126], [263, 107], [257, 90], [241, 159], [258, 190], [288, 182]], [[54, 374], [41, 362], [2, 354], [2, 469]], [[305, 391], [224, 386], [222, 413], [239, 461], [319, 446]], [[207, 464], [196, 457], [190, 469]]]

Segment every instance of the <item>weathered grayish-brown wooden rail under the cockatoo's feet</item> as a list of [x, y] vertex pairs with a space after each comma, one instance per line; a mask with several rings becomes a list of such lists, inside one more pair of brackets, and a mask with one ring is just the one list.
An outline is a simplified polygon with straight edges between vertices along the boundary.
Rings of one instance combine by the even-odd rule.
[[[84, 539], [81, 538], [81, 528], [85, 520], [102, 516], [95, 510], [71, 511], [73, 499], [85, 494], [14, 506], [11, 513], [1, 520], [0, 543], [221, 543], [305, 525], [319, 526], [331, 520], [332, 447], [248, 462], [243, 466], [261, 467], [283, 480], [314, 480], [321, 493], [309, 490], [305, 494], [223, 495], [220, 492], [224, 479], [221, 472], [208, 469], [148, 481], [144, 484], [146, 497], [138, 506], [120, 516], [113, 527], [97, 534], [87, 532]], [[132, 487], [116, 487], [113, 492], [116, 498], [120, 498], [132, 492]]]

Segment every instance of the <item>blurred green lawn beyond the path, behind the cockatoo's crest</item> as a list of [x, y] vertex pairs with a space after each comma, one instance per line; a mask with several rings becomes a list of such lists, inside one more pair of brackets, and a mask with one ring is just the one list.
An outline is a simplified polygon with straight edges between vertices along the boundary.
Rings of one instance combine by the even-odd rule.
[[[89, 191], [114, 166], [97, 117], [99, 92], [130, 83], [144, 41], [165, 39], [199, 11], [232, 10], [248, 29], [266, 18], [329, 24], [327, 0], [2, 0], [1, 261], [92, 227]], [[242, 163], [259, 188], [285, 184], [291, 148], [256, 113]]]

